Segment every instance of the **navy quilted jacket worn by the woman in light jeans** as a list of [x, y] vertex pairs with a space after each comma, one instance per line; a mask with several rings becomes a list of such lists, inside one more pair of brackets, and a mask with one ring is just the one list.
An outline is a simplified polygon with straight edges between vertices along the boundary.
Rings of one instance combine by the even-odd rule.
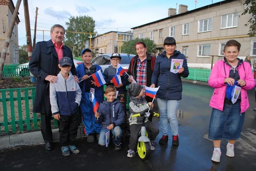
[[[183, 59], [182, 67], [184, 71], [182, 74], [170, 71], [172, 59]], [[151, 84], [155, 84], [156, 87], [160, 86], [156, 97], [166, 100], [181, 100], [182, 82], [180, 77], [186, 78], [188, 74], [187, 59], [180, 51], [175, 50], [173, 56], [169, 59], [165, 51], [157, 56], [151, 77]]]

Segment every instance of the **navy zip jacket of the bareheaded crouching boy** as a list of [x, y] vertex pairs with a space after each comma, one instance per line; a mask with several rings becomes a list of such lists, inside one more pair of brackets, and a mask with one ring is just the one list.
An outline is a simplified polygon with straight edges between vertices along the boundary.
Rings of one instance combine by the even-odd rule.
[[124, 123], [124, 108], [121, 102], [118, 99], [115, 99], [112, 102], [108, 102], [107, 100], [103, 101], [103, 103], [99, 106], [100, 118], [97, 120], [95, 118], [96, 123], [105, 124], [106, 126], [111, 123], [115, 126], [121, 126]]

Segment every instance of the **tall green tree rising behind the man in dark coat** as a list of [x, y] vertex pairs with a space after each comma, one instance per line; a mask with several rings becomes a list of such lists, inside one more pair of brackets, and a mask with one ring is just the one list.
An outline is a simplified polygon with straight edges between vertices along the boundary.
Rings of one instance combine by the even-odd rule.
[[[66, 26], [68, 28], [66, 30], [64, 44], [72, 50], [74, 56], [78, 57], [84, 49], [86, 41], [90, 39], [90, 34], [84, 33], [97, 33], [95, 31], [95, 21], [88, 15], [72, 16], [69, 18], [69, 22], [66, 22]], [[94, 34], [92, 34], [92, 37], [94, 37]]]

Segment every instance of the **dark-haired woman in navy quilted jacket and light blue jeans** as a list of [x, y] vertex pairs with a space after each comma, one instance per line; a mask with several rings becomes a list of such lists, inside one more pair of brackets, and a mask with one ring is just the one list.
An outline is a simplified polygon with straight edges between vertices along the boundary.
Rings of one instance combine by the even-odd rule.
[[[167, 144], [168, 142], [168, 118], [172, 129], [172, 145], [179, 145], [179, 128], [176, 114], [182, 92], [180, 77], [188, 77], [188, 65], [185, 55], [175, 50], [176, 41], [173, 37], [164, 39], [164, 49], [165, 51], [156, 58], [150, 87], [160, 86], [156, 98], [160, 111], [160, 125], [163, 137], [160, 139], [159, 144]], [[170, 71], [172, 59], [183, 59], [183, 65], [177, 73]]]

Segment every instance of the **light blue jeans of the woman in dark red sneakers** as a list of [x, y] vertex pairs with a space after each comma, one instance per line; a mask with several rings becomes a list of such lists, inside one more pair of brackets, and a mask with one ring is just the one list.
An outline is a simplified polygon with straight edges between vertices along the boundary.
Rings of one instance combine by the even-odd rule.
[[178, 135], [179, 127], [177, 120], [177, 109], [180, 104], [180, 100], [165, 100], [157, 98], [157, 103], [160, 112], [160, 125], [162, 134], [168, 135], [168, 117], [172, 129], [172, 135]]

